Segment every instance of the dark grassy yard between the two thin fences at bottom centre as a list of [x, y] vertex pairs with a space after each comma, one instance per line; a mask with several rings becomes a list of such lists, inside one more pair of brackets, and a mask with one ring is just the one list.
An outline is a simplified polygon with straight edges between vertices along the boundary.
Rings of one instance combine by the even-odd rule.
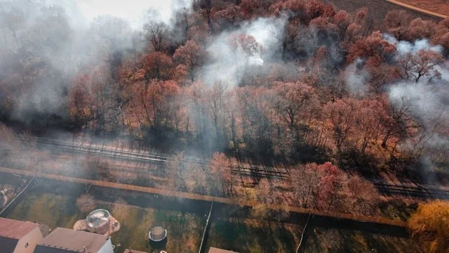
[[255, 219], [215, 218], [208, 247], [236, 252], [295, 252], [302, 226]]

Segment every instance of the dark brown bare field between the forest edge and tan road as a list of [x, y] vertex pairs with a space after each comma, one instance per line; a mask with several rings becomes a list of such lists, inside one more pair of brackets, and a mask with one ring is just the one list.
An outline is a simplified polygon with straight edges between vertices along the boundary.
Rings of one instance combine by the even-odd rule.
[[434, 20], [438, 22], [441, 18], [434, 17], [420, 13], [419, 11], [413, 11], [396, 4], [391, 4], [384, 0], [321, 0], [326, 4], [333, 5], [337, 10], [348, 11], [349, 13], [355, 13], [358, 9], [368, 7], [369, 17], [373, 20], [377, 29], [380, 28], [382, 22], [389, 11], [407, 11], [413, 18], [422, 18], [427, 20]]

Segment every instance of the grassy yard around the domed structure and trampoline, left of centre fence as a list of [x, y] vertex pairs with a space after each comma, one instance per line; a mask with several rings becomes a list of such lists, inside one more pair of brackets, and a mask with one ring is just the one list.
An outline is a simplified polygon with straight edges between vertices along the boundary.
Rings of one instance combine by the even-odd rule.
[[[85, 186], [75, 184], [55, 184], [52, 186], [38, 186], [29, 190], [15, 205], [9, 218], [45, 223], [50, 228], [73, 228], [76, 221], [84, 219], [83, 214], [76, 207], [76, 198], [83, 193]], [[96, 200], [96, 208], [108, 209], [114, 216], [114, 203], [101, 200], [101, 191], [91, 190]], [[97, 194], [98, 193], [98, 194]], [[142, 203], [143, 204], [143, 203]], [[143, 206], [143, 207], [142, 207]], [[116, 218], [122, 222], [126, 214], [122, 231], [112, 235], [114, 244], [121, 244], [119, 248], [149, 251], [147, 240], [150, 228], [163, 226], [168, 231], [168, 252], [198, 252], [206, 218], [201, 214], [182, 212], [175, 209], [156, 209], [146, 205], [127, 205], [121, 209], [121, 215]], [[180, 205], [182, 207], [182, 205]]]

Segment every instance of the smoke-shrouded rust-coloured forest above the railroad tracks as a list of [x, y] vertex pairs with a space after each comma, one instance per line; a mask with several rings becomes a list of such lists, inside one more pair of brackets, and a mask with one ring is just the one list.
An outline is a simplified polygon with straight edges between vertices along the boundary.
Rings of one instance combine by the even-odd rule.
[[375, 25], [368, 9], [319, 1], [193, 0], [136, 30], [107, 15], [83, 27], [45, 1], [0, 4], [5, 124], [362, 174], [448, 165], [447, 19], [392, 11]]

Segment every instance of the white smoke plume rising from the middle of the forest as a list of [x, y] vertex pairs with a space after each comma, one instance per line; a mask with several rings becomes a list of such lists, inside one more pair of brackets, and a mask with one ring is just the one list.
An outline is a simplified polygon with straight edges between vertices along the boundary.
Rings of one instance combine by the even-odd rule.
[[[210, 62], [201, 70], [203, 81], [208, 85], [220, 81], [229, 87], [239, 85], [252, 67], [273, 60], [280, 46], [276, 37], [283, 34], [285, 22], [283, 18], [259, 18], [243, 23], [238, 30], [222, 32], [207, 48]], [[241, 34], [253, 37], [262, 50], [248, 52], [241, 50], [244, 45], [233, 45], [232, 38]]]

